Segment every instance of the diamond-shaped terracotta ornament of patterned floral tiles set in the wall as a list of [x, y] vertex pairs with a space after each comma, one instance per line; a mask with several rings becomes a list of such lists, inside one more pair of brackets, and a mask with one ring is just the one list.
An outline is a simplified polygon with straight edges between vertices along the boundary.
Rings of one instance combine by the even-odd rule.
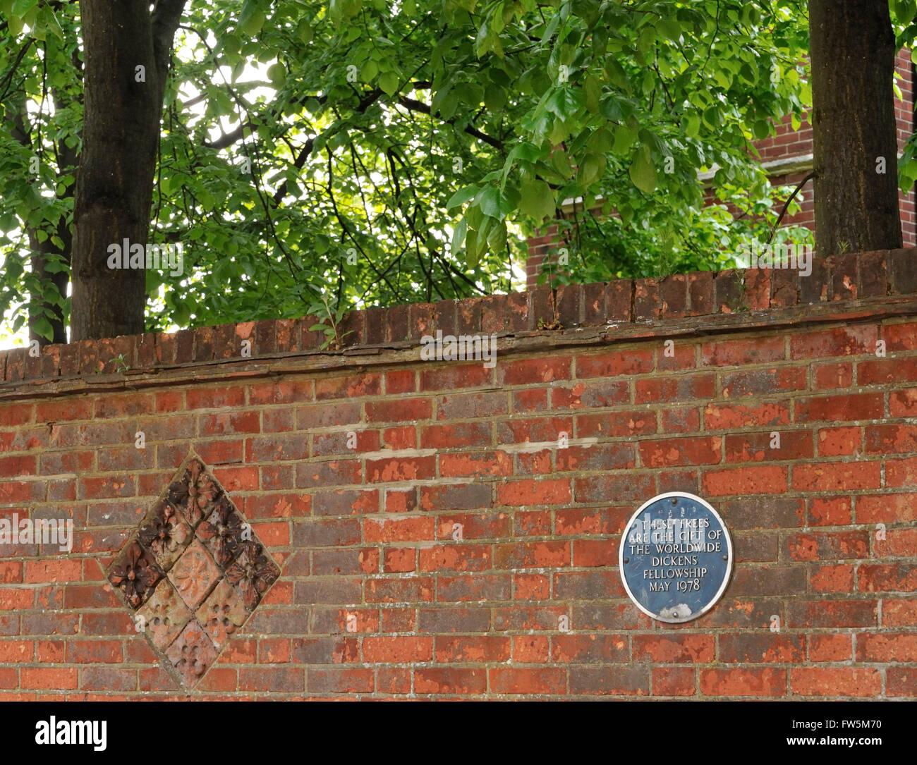
[[191, 459], [107, 572], [163, 665], [192, 688], [280, 576], [249, 523]]

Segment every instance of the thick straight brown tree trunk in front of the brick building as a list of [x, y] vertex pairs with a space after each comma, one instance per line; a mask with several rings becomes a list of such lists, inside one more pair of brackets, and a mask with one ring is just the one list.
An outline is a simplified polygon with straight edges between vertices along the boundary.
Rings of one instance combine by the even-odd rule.
[[900, 247], [888, 0], [810, 0], [809, 35], [815, 250]]

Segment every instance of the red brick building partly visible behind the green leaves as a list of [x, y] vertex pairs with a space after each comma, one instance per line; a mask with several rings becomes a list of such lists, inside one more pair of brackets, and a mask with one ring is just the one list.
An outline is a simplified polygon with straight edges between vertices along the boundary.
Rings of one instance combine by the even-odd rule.
[[[911, 53], [900, 50], [895, 68], [900, 75], [896, 80], [901, 98], [895, 99], [895, 118], [898, 123], [898, 151], [914, 132], [914, 65]], [[790, 117], [785, 117], [777, 127], [777, 135], [756, 141], [755, 145], [761, 155], [762, 165], [768, 169], [770, 180], [775, 186], [795, 186], [812, 170], [812, 126], [803, 122], [799, 130], [793, 130]], [[894, 172], [889, 163], [889, 172]], [[781, 225], [803, 225], [814, 231], [815, 204], [812, 181], [802, 187], [796, 196], [801, 202], [801, 209], [793, 215], [784, 217]], [[912, 192], [899, 192], [901, 213], [901, 234], [906, 247], [917, 245], [917, 209], [915, 209]], [[543, 235], [533, 236], [528, 240], [529, 257], [526, 261], [526, 288], [536, 287], [538, 274], [547, 253], [556, 244], [557, 226], [549, 226]]]

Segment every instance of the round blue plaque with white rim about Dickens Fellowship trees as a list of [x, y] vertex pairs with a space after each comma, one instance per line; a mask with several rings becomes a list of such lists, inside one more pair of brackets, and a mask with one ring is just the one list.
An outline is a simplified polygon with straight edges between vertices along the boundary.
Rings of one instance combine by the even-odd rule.
[[624, 528], [618, 552], [624, 589], [647, 616], [669, 623], [709, 611], [729, 583], [733, 543], [701, 497], [660, 494]]

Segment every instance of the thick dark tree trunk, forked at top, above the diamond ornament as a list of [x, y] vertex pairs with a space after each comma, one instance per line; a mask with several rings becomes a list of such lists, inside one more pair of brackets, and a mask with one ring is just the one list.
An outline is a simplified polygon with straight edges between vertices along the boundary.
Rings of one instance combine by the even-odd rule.
[[[108, 268], [146, 246], [172, 37], [184, 0], [80, 0], [83, 151], [73, 201], [71, 340], [141, 333], [146, 271]], [[142, 67], [142, 71], [139, 69]]]

